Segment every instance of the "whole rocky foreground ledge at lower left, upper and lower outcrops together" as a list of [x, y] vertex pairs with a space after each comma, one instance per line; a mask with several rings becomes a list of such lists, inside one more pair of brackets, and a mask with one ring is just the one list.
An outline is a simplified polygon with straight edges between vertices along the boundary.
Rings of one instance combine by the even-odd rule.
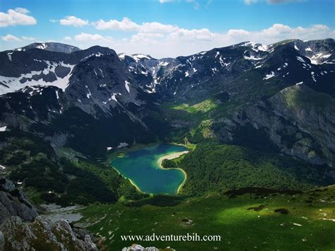
[[66, 220], [52, 222], [13, 182], [0, 177], [0, 250], [98, 250], [94, 236], [84, 228], [71, 228]]

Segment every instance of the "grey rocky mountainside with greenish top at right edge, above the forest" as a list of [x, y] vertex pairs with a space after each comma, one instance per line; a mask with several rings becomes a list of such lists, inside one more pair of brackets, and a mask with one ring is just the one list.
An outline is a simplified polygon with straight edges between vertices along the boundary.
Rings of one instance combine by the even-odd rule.
[[249, 131], [259, 138], [269, 138], [283, 153], [334, 166], [334, 121], [334, 98], [297, 85], [239, 110], [229, 119], [216, 120], [213, 130], [222, 141], [237, 143]]

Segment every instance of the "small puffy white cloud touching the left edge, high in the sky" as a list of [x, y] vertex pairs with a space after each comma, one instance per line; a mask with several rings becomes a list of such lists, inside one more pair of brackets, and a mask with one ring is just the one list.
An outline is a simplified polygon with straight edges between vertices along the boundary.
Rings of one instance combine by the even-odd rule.
[[29, 11], [25, 8], [9, 9], [7, 13], [0, 12], [0, 27], [15, 25], [35, 25], [37, 23], [33, 16], [28, 16]]

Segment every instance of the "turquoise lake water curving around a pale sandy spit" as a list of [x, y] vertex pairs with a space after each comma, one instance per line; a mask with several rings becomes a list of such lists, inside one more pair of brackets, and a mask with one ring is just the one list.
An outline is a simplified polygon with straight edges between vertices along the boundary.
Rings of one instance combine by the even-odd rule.
[[112, 167], [129, 178], [142, 192], [148, 194], [175, 194], [185, 175], [178, 169], [162, 169], [158, 159], [170, 153], [187, 151], [184, 146], [159, 144], [131, 151], [112, 160]]

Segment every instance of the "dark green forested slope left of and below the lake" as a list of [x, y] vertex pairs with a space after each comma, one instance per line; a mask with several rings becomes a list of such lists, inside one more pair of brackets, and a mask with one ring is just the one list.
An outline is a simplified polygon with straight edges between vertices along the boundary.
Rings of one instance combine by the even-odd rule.
[[28, 194], [33, 191], [35, 202], [67, 206], [145, 196], [113, 168], [87, 158], [59, 157], [40, 137], [6, 132], [1, 141], [0, 163], [6, 165], [6, 175], [22, 182]]

